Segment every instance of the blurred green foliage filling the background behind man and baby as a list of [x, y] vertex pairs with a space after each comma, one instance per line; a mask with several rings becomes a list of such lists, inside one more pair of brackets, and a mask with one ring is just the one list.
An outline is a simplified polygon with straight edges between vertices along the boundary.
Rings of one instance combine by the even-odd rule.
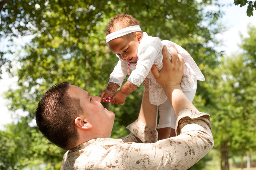
[[[249, 135], [253, 130], [255, 133], [251, 126], [255, 119], [249, 118], [255, 112], [252, 47], [256, 43], [245, 38], [241, 46], [246, 52], [241, 55], [243, 59], [221, 60], [222, 54], [214, 46], [219, 43], [215, 35], [224, 30], [218, 22], [222, 12], [213, 11], [210, 6], [219, 5], [212, 0], [7, 1], [1, 8], [0, 39], [8, 39], [10, 50], [0, 54], [1, 59], [16, 54], [18, 68], [11, 73], [18, 76], [18, 88], [8, 90], [5, 96], [10, 101], [10, 110], [22, 109], [28, 115], [0, 131], [0, 155], [5, 155], [1, 156], [0, 169], [60, 169], [65, 151], [43, 138], [37, 127], [30, 127], [29, 123], [35, 117], [40, 97], [57, 82], [68, 81], [99, 96], [118, 60], [107, 48], [105, 26], [110, 18], [122, 12], [139, 20], [142, 30], [149, 35], [181, 45], [198, 63], [206, 81], [199, 82], [193, 103], [199, 110], [210, 113], [215, 147], [220, 148], [225, 140], [230, 148], [237, 141], [238, 146], [247, 146], [245, 143], [252, 142]], [[27, 35], [32, 35], [31, 42], [21, 51], [13, 51], [15, 38]], [[224, 79], [225, 75], [228, 79]], [[125, 127], [137, 119], [143, 86], [138, 89], [140, 92], [127, 96], [125, 104], [103, 103], [116, 115], [113, 138], [126, 136]], [[234, 153], [244, 149], [238, 146], [232, 150]], [[251, 144], [244, 151], [253, 147]], [[191, 169], [202, 169], [209, 159], [203, 158]]]

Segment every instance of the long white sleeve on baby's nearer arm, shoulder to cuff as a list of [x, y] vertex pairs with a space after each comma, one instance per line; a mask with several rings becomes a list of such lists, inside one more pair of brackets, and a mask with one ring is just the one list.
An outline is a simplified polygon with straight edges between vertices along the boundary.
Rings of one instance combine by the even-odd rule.
[[158, 37], [147, 36], [141, 40], [138, 48], [138, 61], [136, 69], [132, 71], [128, 80], [136, 86], [140, 86], [149, 74], [154, 60], [162, 55], [163, 45]]

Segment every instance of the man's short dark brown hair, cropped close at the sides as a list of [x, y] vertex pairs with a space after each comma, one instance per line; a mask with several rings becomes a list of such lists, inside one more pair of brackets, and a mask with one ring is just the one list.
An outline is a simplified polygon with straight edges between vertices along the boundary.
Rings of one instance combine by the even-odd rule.
[[69, 82], [59, 82], [49, 88], [35, 111], [38, 129], [50, 142], [63, 150], [74, 147], [78, 139], [75, 119], [82, 114], [80, 100], [67, 93]]

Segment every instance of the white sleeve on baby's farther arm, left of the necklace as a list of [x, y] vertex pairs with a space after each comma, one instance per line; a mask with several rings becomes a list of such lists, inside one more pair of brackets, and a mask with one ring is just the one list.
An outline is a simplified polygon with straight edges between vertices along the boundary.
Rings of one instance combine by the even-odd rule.
[[127, 64], [125, 61], [122, 61], [119, 59], [113, 72], [110, 74], [109, 82], [113, 82], [121, 86], [126, 75], [127, 75]]

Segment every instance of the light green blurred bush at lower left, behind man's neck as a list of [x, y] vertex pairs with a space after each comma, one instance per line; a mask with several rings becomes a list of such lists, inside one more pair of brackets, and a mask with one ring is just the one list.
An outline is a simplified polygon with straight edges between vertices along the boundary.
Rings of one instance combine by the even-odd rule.
[[36, 127], [30, 127], [23, 117], [0, 131], [0, 169], [60, 169], [63, 154], [57, 146], [42, 138]]

